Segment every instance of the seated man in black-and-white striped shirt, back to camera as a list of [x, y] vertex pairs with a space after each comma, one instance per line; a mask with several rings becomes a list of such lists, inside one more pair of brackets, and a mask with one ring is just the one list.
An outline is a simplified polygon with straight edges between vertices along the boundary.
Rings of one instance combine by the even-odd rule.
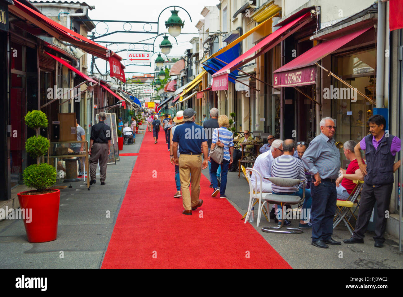
[[[288, 177], [305, 181], [305, 200], [302, 209], [302, 217], [299, 222], [299, 228], [312, 229], [312, 224], [309, 222], [310, 208], [312, 205], [306, 206], [307, 202], [312, 201], [311, 191], [307, 188], [307, 178], [305, 175], [305, 167], [299, 158], [293, 157], [295, 151], [295, 142], [293, 139], [286, 139], [283, 143], [284, 154], [278, 157], [272, 163], [272, 177]], [[297, 186], [280, 187], [277, 185], [272, 186], [273, 194], [279, 195], [295, 195], [303, 196], [303, 182]], [[281, 218], [281, 206], [277, 205], [278, 217]], [[278, 225], [281, 225], [281, 219], [278, 220]], [[284, 225], [291, 225], [290, 221], [285, 220]]]

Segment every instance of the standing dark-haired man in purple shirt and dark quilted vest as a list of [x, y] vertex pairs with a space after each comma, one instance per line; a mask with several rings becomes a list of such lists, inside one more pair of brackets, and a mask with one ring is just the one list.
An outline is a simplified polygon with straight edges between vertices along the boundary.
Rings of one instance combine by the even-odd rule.
[[[377, 203], [375, 247], [382, 247], [385, 242], [386, 211], [389, 210], [393, 188], [393, 173], [400, 167], [395, 163], [396, 153], [400, 151], [401, 140], [393, 135], [385, 134], [386, 120], [382, 115], [373, 115], [368, 119], [370, 135], [365, 136], [354, 148], [359, 169], [364, 174], [364, 186], [361, 190], [357, 223], [350, 239], [345, 243], [364, 243], [364, 233], [370, 221], [372, 209]], [[361, 158], [361, 150], [365, 150], [366, 164]]]

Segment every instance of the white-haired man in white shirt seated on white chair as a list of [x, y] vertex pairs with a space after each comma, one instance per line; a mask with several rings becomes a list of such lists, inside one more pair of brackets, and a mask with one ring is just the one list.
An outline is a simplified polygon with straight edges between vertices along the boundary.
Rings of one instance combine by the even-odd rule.
[[[253, 169], [256, 169], [257, 171], [260, 172], [262, 177], [271, 177], [271, 170], [272, 170], [272, 161], [283, 155], [283, 140], [276, 139], [273, 141], [270, 150], [260, 154], [255, 161], [255, 164], [253, 165]], [[255, 181], [257, 181], [256, 187], [255, 187]], [[262, 193], [271, 193], [273, 192], [272, 190], [272, 182], [269, 181], [268, 179], [263, 179], [262, 181], [262, 189], [260, 189], [260, 178], [255, 177], [255, 175], [252, 173], [251, 175], [251, 182], [253, 185], [253, 190], [255, 192], [262, 192]]]

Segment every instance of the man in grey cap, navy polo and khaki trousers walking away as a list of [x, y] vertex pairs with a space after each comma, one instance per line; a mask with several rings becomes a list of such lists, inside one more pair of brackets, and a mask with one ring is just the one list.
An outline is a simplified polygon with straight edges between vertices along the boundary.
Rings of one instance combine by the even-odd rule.
[[[179, 165], [179, 177], [181, 179], [183, 214], [191, 215], [192, 210], [202, 206], [203, 200], [199, 200], [200, 177], [202, 169], [208, 165], [207, 139], [202, 126], [195, 124], [196, 112], [187, 108], [183, 111], [183, 125], [178, 126], [172, 136], [172, 154], [174, 163]], [[181, 153], [178, 159], [179, 152]], [[204, 161], [202, 161], [202, 148]], [[192, 192], [189, 186], [192, 183]]]

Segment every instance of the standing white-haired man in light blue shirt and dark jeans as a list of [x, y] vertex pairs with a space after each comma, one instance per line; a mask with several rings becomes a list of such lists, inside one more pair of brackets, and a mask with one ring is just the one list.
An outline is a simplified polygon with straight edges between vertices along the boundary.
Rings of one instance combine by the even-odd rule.
[[340, 241], [332, 239], [340, 151], [333, 138], [336, 131], [334, 120], [330, 117], [323, 118], [319, 126], [321, 133], [312, 139], [301, 160], [305, 169], [313, 175], [311, 183], [312, 245], [328, 248], [328, 244], [341, 244]]

